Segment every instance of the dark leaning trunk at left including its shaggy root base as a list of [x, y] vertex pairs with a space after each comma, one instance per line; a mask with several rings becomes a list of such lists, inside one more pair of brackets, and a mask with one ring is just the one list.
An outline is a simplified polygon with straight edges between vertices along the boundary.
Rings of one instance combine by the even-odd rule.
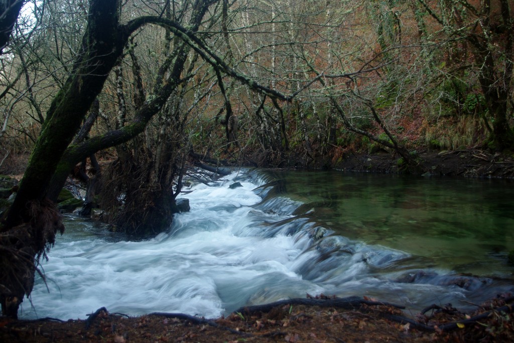
[[82, 120], [100, 93], [122, 52], [118, 2], [90, 0], [81, 52], [64, 87], [53, 99], [41, 135], [0, 229], [0, 299], [3, 314], [16, 317], [24, 295], [32, 291], [34, 259], [63, 231], [61, 216], [46, 199], [52, 175]]

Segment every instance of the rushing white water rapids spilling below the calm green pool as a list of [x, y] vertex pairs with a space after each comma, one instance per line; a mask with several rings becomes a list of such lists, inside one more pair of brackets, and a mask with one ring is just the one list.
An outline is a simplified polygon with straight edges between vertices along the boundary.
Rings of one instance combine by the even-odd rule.
[[[242, 187], [230, 189], [235, 181]], [[419, 309], [512, 290], [508, 281], [451, 275], [424, 258], [331, 234], [266, 182], [258, 172], [233, 173], [215, 187], [192, 186], [184, 195], [191, 211], [149, 240], [121, 241], [69, 217], [42, 262], [47, 283], [36, 281], [21, 317], [84, 318], [100, 307], [217, 317], [306, 293], [366, 295]]]

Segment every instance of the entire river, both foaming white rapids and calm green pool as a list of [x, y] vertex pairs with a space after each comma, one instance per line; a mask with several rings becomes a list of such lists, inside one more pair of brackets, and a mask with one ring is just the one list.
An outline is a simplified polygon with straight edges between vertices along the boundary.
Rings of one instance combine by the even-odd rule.
[[[230, 189], [234, 183], [242, 187]], [[125, 241], [67, 215], [21, 318], [208, 318], [306, 294], [368, 296], [412, 313], [514, 292], [514, 187], [504, 180], [239, 170], [180, 195], [153, 239]]]

